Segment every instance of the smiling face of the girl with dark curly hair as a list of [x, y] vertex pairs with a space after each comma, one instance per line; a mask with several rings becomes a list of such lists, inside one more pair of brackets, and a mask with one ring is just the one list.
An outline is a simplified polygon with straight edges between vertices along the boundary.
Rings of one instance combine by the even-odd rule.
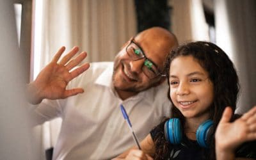
[[170, 97], [186, 118], [209, 118], [214, 86], [193, 56], [178, 56], [170, 65]]

